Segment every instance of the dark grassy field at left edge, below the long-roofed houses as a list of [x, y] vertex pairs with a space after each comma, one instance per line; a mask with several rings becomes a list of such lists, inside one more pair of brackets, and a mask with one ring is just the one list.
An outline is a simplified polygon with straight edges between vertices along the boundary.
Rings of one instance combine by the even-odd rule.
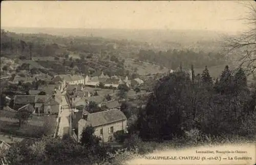
[[27, 123], [19, 127], [15, 113], [2, 110], [0, 115], [0, 132], [29, 137], [41, 137], [44, 134], [51, 135], [55, 130], [56, 117], [57, 115], [32, 115]]

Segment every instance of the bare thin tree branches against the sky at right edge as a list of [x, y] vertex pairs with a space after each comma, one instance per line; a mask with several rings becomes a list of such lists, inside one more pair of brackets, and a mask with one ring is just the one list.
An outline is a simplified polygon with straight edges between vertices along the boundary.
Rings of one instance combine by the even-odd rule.
[[238, 68], [243, 67], [248, 75], [256, 71], [256, 3], [242, 3], [247, 9], [246, 21], [249, 31], [240, 36], [224, 36], [223, 49], [227, 56], [237, 61]]

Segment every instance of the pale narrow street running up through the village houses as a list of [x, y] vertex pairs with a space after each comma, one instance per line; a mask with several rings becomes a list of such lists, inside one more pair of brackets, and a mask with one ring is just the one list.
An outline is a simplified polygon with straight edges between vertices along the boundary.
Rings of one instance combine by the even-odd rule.
[[66, 91], [62, 93], [62, 108], [60, 113], [60, 122], [58, 136], [62, 138], [64, 135], [69, 135], [69, 117], [71, 114], [70, 107], [66, 100]]

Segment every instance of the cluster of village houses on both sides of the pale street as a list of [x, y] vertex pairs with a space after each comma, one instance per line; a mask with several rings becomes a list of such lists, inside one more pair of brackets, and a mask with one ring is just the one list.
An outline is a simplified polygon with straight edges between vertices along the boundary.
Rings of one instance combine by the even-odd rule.
[[[32, 83], [38, 80], [44, 80], [47, 83], [40, 84], [36, 89], [29, 90], [26, 95], [15, 95], [13, 98], [9, 98], [11, 110], [17, 112], [29, 111], [34, 114], [58, 114], [62, 108], [63, 92], [66, 91], [73, 114], [72, 127], [76, 130], [77, 140], [80, 138], [82, 129], [90, 125], [95, 128], [95, 134], [101, 137], [104, 143], [114, 140], [114, 132], [119, 130], [126, 131], [127, 119], [120, 111], [120, 103], [118, 101], [107, 101], [103, 94], [95, 95], [94, 92], [97, 91], [96, 89], [101, 90], [104, 88], [104, 90], [113, 91], [112, 95], [114, 96], [114, 90], [120, 84], [133, 87], [144, 83], [139, 78], [129, 80], [127, 76], [109, 77], [102, 73], [100, 76], [95, 77], [68, 74], [56, 75], [53, 78], [47, 75], [30, 78], [15, 77], [12, 84], [17, 84], [20, 81]], [[104, 105], [106, 109], [90, 113], [86, 109], [90, 101], [95, 102], [98, 107]], [[81, 110], [75, 109], [78, 106], [83, 106], [84, 108]]]

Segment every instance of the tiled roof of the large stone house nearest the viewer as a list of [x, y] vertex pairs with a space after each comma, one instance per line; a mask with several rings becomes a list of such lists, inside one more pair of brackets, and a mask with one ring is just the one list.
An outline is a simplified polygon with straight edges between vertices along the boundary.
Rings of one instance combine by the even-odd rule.
[[96, 113], [90, 113], [88, 114], [87, 121], [84, 119], [81, 119], [83, 121], [79, 121], [79, 123], [89, 124], [92, 127], [98, 127], [102, 125], [107, 125], [119, 121], [126, 120], [125, 115], [123, 112], [121, 112], [118, 109], [111, 109]]

